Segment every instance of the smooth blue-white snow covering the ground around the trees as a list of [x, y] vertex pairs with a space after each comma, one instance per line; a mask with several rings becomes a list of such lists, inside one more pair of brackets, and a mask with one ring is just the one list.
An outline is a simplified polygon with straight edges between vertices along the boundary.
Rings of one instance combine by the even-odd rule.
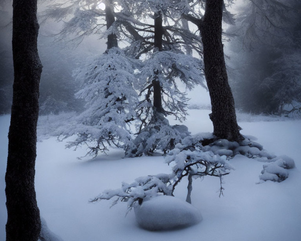
[[[209, 111], [189, 110], [189, 113], [184, 124], [193, 134], [212, 132]], [[5, 240], [4, 177], [9, 118], [0, 116], [0, 240]], [[218, 178], [194, 180], [191, 200], [203, 216], [203, 221], [195, 226], [146, 231], [138, 227], [134, 211], [125, 217], [126, 203], [110, 209], [111, 201], [88, 202], [104, 189], [119, 188], [122, 181], [170, 173], [163, 157], [122, 159], [123, 151], [112, 150], [108, 156], [78, 160], [76, 157], [85, 155], [85, 149], [76, 152], [65, 149], [66, 142], [57, 142], [55, 137], [37, 143], [36, 193], [41, 215], [48, 227], [65, 241], [301, 240], [301, 121], [260, 120], [259, 117], [252, 118], [253, 122], [240, 122], [241, 133], [257, 137], [256, 142], [269, 152], [292, 157], [296, 168], [289, 170], [290, 176], [282, 183], [256, 184], [263, 163], [236, 156], [231, 160], [236, 170], [225, 176], [225, 196], [221, 198], [217, 193]], [[185, 200], [187, 183], [183, 180], [176, 187], [176, 197]]]

